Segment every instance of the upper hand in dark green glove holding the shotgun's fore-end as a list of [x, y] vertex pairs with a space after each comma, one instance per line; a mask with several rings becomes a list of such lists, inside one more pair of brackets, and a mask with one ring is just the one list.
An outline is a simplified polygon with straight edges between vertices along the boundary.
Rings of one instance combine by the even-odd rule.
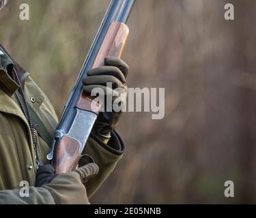
[[[111, 112], [106, 112], [106, 108], [107, 106], [109, 106], [109, 104], [111, 104], [111, 108], [113, 108], [113, 102], [120, 95], [126, 97], [128, 92], [126, 86], [127, 74], [128, 65], [124, 63], [124, 61], [115, 57], [106, 57], [105, 66], [89, 70], [89, 72], [87, 72], [87, 77], [83, 78], [83, 90], [86, 93], [91, 94], [91, 91], [94, 88], [101, 88], [104, 91], [105, 111], [100, 112], [100, 114], [98, 115], [98, 119], [94, 124], [94, 128], [92, 131], [95, 134], [105, 136], [107, 138], [110, 136], [111, 131], [113, 131], [115, 127], [117, 127], [122, 111], [115, 112], [114, 110], [112, 110]], [[106, 87], [107, 82], [112, 83], [111, 90]], [[113, 89], [117, 88], [121, 88], [122, 91], [113, 91]], [[113, 93], [115, 95], [114, 97], [112, 97], [112, 102], [106, 101], [106, 95], [109, 95], [109, 93]]]

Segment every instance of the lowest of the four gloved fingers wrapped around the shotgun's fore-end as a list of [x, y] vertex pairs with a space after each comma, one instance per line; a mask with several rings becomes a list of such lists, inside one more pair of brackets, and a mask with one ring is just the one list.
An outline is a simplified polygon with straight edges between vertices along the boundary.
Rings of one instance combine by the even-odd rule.
[[[95, 96], [95, 97], [113, 97], [113, 96], [119, 96], [119, 93], [109, 87], [105, 87], [99, 84], [90, 84], [90, 85], [86, 85], [83, 87], [83, 91], [85, 91], [85, 93], [88, 93], [91, 96]], [[98, 94], [98, 95], [96, 95]]]

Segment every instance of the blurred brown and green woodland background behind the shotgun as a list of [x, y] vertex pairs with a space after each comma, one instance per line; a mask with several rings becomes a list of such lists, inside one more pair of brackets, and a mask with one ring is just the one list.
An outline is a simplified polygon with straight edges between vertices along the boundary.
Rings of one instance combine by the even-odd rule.
[[[29, 3], [30, 20], [19, 19]], [[224, 19], [233, 3], [235, 20]], [[61, 114], [109, 0], [11, 1], [0, 43]], [[129, 87], [165, 87], [165, 118], [126, 113], [122, 161], [102, 204], [256, 203], [256, 1], [138, 0], [124, 60]], [[235, 184], [225, 198], [224, 183]]]

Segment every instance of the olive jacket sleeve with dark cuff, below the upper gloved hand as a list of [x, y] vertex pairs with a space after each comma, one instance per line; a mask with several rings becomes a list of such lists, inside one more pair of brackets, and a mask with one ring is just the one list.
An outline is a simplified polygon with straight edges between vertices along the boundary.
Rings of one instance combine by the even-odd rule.
[[[97, 191], [109, 174], [111, 174], [117, 165], [117, 162], [122, 158], [123, 153], [124, 143], [117, 132], [112, 132], [111, 139], [107, 145], [104, 144], [98, 136], [91, 132], [91, 137], [85, 145], [83, 155], [89, 155], [89, 157], [98, 164], [100, 170], [98, 175], [89, 179], [89, 181], [85, 183], [87, 196], [89, 198]], [[81, 158], [79, 166], [83, 166], [88, 163], [87, 157], [85, 156]]]

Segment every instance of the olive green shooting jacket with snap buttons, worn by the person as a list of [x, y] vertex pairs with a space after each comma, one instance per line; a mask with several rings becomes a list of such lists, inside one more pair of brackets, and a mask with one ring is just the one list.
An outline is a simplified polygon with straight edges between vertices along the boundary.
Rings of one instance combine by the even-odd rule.
[[[38, 115], [51, 135], [55, 131], [58, 119], [51, 102], [29, 73], [11, 59], [2, 46], [0, 50], [2, 51], [0, 54], [3, 53], [0, 55], [0, 204], [9, 203], [10, 199], [15, 204], [20, 203], [18, 189], [21, 188], [21, 181], [27, 181], [31, 187], [35, 185], [36, 163], [29, 123], [15, 94], [18, 84], [10, 76], [14, 70], [24, 87], [27, 104]], [[35, 138], [37, 138], [36, 150], [40, 164], [48, 163], [46, 155], [50, 152], [51, 145], [46, 144], [36, 131]], [[124, 144], [115, 132], [107, 146], [97, 136], [91, 134], [83, 153], [91, 156], [100, 168], [99, 174], [85, 183], [87, 196], [91, 196], [121, 159]], [[79, 164], [85, 163], [85, 159], [82, 159]], [[33, 191], [33, 195], [29, 198], [32, 204], [54, 203], [51, 193], [46, 190]]]

